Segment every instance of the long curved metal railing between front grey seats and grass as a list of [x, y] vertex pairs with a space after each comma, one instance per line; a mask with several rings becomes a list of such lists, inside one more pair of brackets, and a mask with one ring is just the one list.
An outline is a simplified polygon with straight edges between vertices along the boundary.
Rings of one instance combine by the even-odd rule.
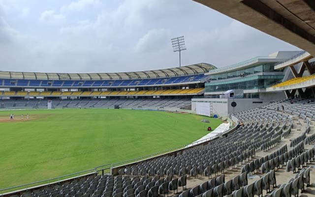
[[[235, 127], [236, 126], [234, 126], [233, 128], [230, 128], [229, 130], [227, 130], [225, 132], [220, 133], [220, 135], [223, 135], [223, 134], [225, 134], [225, 133], [235, 129]], [[35, 187], [35, 186], [39, 186], [39, 185], [43, 185], [43, 184], [48, 184], [49, 185], [49, 184], [51, 184], [53, 182], [56, 182], [56, 181], [57, 182], [62, 182], [64, 180], [62, 178], [65, 178], [65, 177], [75, 178], [75, 177], [77, 177], [79, 175], [88, 174], [87, 172], [90, 172], [90, 173], [91, 172], [98, 172], [98, 173], [100, 172], [103, 175], [104, 173], [110, 172], [110, 169], [112, 167], [139, 162], [141, 160], [157, 157], [157, 156], [160, 156], [160, 155], [163, 155], [163, 154], [166, 154], [166, 153], [170, 153], [170, 152], [173, 152], [173, 151], [184, 149], [184, 148], [187, 148], [188, 146], [190, 148], [190, 147], [193, 147], [195, 145], [202, 144], [202, 143], [207, 142], [207, 141], [211, 141], [211, 140], [213, 140], [213, 139], [215, 139], [217, 137], [220, 137], [220, 135], [217, 134], [215, 136], [212, 136], [212, 137], [209, 137], [209, 138], [206, 138], [206, 139], [203, 139], [203, 140], [195, 141], [195, 142], [192, 142], [192, 143], [189, 143], [189, 144], [186, 144], [186, 145], [181, 145], [181, 146], [178, 146], [178, 147], [175, 147], [175, 148], [171, 148], [171, 149], [167, 149], [167, 150], [164, 150], [164, 151], [152, 153], [152, 154], [149, 154], [149, 155], [145, 155], [145, 156], [142, 156], [142, 157], [126, 160], [126, 161], [123, 161], [123, 162], [99, 165], [99, 166], [96, 166], [95, 168], [84, 170], [84, 171], [79, 171], [79, 172], [75, 172], [75, 173], [71, 173], [71, 174], [67, 174], [67, 175], [63, 175], [63, 176], [58, 176], [58, 177], [55, 177], [55, 178], [50, 178], [50, 179], [45, 179], [45, 180], [36, 181], [36, 182], [32, 182], [32, 183], [27, 183], [27, 184], [23, 184], [23, 185], [18, 185], [18, 186], [13, 186], [13, 187], [0, 189], [0, 196], [3, 195], [5, 191], [9, 192], [9, 191], [13, 191], [13, 189], [14, 190], [16, 190], [16, 189], [21, 189], [21, 190], [22, 189], [29, 189], [31, 187]]]

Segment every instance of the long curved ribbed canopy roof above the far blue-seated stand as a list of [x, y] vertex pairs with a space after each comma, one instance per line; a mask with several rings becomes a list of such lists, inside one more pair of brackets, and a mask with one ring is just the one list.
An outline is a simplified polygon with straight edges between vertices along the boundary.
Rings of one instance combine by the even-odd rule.
[[0, 71], [0, 78], [4, 79], [49, 79], [49, 80], [112, 80], [112, 79], [143, 79], [173, 77], [190, 74], [206, 73], [216, 66], [200, 63], [189, 66], [166, 68], [160, 70], [112, 73], [45, 73], [45, 72], [13, 72]]

